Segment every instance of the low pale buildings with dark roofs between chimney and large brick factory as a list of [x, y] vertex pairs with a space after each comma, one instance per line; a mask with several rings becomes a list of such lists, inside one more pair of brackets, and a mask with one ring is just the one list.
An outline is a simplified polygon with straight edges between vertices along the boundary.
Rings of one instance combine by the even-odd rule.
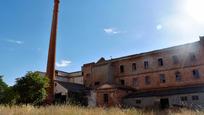
[[[45, 76], [45, 72], [38, 72]], [[54, 102], [67, 103], [70, 100], [75, 100], [81, 105], [86, 104], [86, 88], [83, 85], [83, 76], [81, 71], [64, 72], [55, 71], [54, 79]]]

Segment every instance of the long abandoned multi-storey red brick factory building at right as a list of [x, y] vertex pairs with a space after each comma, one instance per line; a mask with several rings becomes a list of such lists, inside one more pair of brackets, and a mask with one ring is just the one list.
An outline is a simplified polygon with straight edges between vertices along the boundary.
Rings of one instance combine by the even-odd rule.
[[204, 106], [204, 37], [200, 41], [82, 66], [91, 105]]

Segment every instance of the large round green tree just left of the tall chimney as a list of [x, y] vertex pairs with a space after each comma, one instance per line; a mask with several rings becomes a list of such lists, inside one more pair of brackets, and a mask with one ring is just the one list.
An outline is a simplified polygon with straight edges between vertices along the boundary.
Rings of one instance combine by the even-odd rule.
[[19, 94], [18, 103], [41, 104], [47, 96], [48, 86], [47, 77], [38, 72], [28, 72], [24, 77], [18, 78], [14, 85], [14, 90]]

